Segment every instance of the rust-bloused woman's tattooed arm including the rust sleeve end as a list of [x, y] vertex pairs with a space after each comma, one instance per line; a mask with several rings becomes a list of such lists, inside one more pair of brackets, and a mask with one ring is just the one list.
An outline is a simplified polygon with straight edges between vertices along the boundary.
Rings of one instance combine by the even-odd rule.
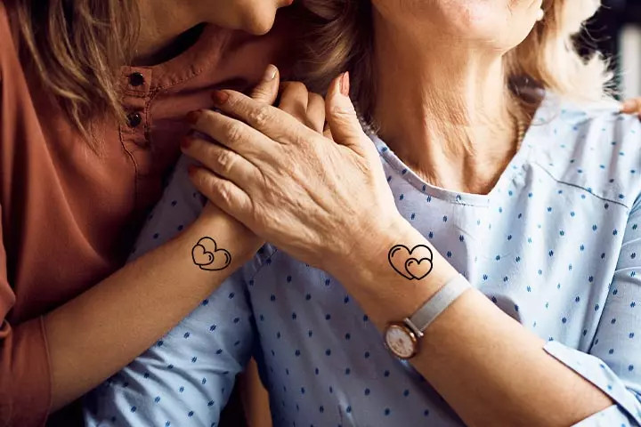
[[[270, 78], [252, 96], [271, 102], [277, 93], [278, 79]], [[178, 170], [183, 181], [185, 166]], [[261, 240], [214, 206], [190, 225], [202, 209], [202, 204], [194, 205], [192, 193], [190, 186], [189, 193], [174, 198], [191, 206], [189, 218], [180, 224], [185, 227], [182, 234], [174, 238], [177, 225], [166, 230], [150, 247], [161, 241], [166, 245], [44, 317], [24, 325], [4, 324], [0, 424], [43, 423], [48, 411], [77, 399], [148, 349], [255, 253]], [[194, 263], [192, 249], [204, 237], [213, 238], [231, 254], [225, 269], [202, 270]], [[138, 253], [150, 247], [139, 248]], [[0, 261], [4, 266], [4, 259]], [[11, 285], [4, 280], [0, 318], [11, 310], [13, 298]]]

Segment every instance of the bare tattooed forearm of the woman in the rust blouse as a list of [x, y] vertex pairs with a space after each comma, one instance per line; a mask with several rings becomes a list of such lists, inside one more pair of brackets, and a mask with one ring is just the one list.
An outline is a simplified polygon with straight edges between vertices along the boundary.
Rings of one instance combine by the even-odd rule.
[[[256, 238], [229, 224], [222, 217], [193, 223], [45, 317], [53, 410], [125, 367], [249, 259]], [[192, 248], [204, 237], [231, 254], [223, 270], [195, 264]]]

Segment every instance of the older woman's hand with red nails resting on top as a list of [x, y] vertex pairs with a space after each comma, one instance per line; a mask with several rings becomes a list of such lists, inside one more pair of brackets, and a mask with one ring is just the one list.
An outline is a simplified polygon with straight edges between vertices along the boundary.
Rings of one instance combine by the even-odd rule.
[[223, 91], [214, 95], [222, 113], [199, 111], [194, 123], [221, 145], [185, 149], [209, 169], [195, 168], [191, 178], [215, 205], [330, 272], [357, 261], [359, 246], [377, 250], [376, 231], [400, 218], [377, 150], [344, 94], [348, 88], [346, 75], [329, 88], [327, 118], [337, 142], [280, 109]]

